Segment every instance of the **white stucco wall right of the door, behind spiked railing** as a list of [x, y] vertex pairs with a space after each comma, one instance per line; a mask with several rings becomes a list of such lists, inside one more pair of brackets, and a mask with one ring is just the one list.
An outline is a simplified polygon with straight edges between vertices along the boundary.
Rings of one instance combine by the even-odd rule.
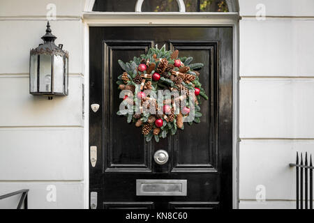
[[[260, 3], [265, 20], [255, 18]], [[297, 151], [314, 153], [314, 1], [239, 6], [239, 207], [295, 208], [288, 164]], [[255, 200], [257, 185], [264, 202]]]

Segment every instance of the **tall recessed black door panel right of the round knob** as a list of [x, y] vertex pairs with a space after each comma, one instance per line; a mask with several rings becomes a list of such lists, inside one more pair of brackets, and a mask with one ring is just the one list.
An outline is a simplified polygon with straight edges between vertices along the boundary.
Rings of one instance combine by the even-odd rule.
[[201, 84], [210, 95], [200, 105], [201, 123], [188, 125], [174, 139], [173, 172], [217, 171], [218, 151], [215, 138], [217, 129], [217, 43], [206, 41], [170, 40], [172, 50], [179, 49], [182, 55], [193, 56], [193, 62], [202, 61]]

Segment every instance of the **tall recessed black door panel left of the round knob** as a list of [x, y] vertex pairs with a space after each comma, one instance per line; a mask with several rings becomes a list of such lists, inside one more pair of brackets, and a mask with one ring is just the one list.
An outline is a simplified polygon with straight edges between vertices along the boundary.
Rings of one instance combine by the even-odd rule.
[[[151, 171], [151, 144], [144, 141], [140, 128], [117, 116], [121, 99], [117, 79], [121, 72], [117, 61], [130, 61], [133, 56], [145, 54], [154, 42], [134, 40], [104, 40], [105, 114], [107, 132], [105, 144], [105, 171]], [[128, 142], [126, 144], [126, 141]]]

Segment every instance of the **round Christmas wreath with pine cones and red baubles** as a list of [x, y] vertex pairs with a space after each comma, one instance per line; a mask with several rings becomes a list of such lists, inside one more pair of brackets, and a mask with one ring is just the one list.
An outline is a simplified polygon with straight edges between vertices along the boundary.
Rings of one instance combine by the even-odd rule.
[[208, 97], [196, 70], [204, 65], [191, 63], [191, 56], [178, 56], [178, 50], [166, 51], [164, 45], [129, 63], [118, 61], [124, 72], [117, 81], [123, 98], [117, 114], [141, 127], [147, 141], [184, 130], [184, 122], [200, 123], [200, 96]]

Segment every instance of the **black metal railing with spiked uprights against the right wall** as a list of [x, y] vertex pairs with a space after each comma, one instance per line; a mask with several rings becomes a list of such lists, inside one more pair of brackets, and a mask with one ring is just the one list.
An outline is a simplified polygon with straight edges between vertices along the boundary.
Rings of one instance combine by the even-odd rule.
[[[304, 161], [304, 162], [303, 162]], [[303, 158], [301, 153], [301, 162], [299, 163], [299, 153], [295, 164], [290, 163], [290, 167], [295, 167], [297, 178], [297, 209], [313, 209], [313, 164], [312, 155], [310, 155], [310, 164], [308, 165], [308, 153]]]

